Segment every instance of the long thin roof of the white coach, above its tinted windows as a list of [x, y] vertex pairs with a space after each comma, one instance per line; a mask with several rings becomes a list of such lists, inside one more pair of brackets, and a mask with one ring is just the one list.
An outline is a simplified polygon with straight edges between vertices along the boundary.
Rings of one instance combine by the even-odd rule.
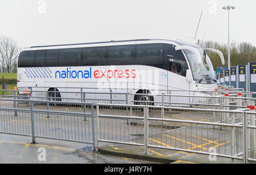
[[199, 47], [196, 44], [188, 43], [182, 40], [167, 40], [167, 39], [136, 39], [136, 40], [119, 40], [119, 41], [103, 41], [103, 42], [94, 42], [94, 43], [76, 43], [76, 44], [56, 44], [56, 45], [40, 45], [40, 46], [32, 46], [30, 48], [42, 48], [42, 47], [60, 47], [60, 46], [69, 46], [69, 45], [85, 45], [85, 44], [105, 44], [105, 43], [122, 43], [122, 42], [129, 42], [129, 41], [154, 41], [154, 40], [162, 40], [162, 41], [171, 41], [173, 43], [179, 45], [193, 45], [195, 47]]

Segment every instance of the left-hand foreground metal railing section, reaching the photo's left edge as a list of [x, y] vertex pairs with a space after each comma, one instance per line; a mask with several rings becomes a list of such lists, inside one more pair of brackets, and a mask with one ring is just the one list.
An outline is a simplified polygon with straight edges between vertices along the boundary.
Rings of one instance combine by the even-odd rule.
[[[21, 136], [31, 136], [32, 143], [36, 138], [74, 141], [92, 144], [95, 147], [94, 105], [93, 103], [51, 102], [55, 105], [66, 103], [68, 105], [85, 106], [86, 111], [44, 109], [42, 104], [49, 101], [35, 101], [24, 99], [4, 99], [17, 104], [25, 101], [30, 109], [15, 107], [0, 107], [0, 133]], [[2, 99], [0, 99], [2, 101]]]

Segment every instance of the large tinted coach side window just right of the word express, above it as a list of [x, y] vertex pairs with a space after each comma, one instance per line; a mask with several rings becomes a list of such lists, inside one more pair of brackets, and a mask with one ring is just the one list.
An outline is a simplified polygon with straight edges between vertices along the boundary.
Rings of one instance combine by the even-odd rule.
[[135, 64], [163, 68], [163, 44], [137, 45]]

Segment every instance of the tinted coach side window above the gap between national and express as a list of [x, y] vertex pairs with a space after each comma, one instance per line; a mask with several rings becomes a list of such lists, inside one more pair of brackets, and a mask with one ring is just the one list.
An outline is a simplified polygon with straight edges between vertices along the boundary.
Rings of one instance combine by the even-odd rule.
[[106, 63], [106, 48], [84, 48], [82, 49], [81, 65], [107, 65]]

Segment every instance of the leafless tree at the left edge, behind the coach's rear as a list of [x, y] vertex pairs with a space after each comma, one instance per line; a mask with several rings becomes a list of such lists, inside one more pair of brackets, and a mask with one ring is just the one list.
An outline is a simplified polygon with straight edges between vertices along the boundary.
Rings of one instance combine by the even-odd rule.
[[20, 47], [16, 41], [7, 36], [0, 38], [0, 57], [3, 73], [10, 73], [16, 70], [16, 60], [20, 52]]

